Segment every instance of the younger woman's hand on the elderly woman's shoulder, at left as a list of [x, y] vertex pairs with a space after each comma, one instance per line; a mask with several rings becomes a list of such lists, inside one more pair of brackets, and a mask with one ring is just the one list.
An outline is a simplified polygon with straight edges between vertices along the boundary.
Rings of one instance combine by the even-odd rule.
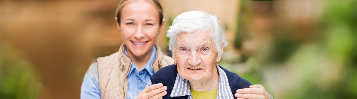
[[163, 86], [161, 83], [146, 86], [145, 89], [137, 95], [137, 99], [162, 99], [162, 96], [167, 94], [166, 90], [167, 86]]

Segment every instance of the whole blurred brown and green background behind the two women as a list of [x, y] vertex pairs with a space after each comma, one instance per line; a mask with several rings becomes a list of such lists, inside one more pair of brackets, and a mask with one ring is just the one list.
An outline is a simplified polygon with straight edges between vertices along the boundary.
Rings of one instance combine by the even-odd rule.
[[[217, 14], [229, 45], [221, 65], [275, 99], [357, 97], [357, 0], [159, 0], [166, 19]], [[0, 98], [79, 99], [96, 58], [122, 43], [119, 0], [1, 0]]]

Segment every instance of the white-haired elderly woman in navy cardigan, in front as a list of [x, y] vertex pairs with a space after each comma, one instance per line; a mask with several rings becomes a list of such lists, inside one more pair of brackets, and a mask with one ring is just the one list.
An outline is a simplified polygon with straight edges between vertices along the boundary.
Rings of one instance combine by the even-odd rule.
[[219, 66], [227, 41], [216, 15], [203, 11], [182, 13], [174, 19], [167, 37], [174, 65], [157, 71], [148, 84], [167, 86], [163, 99], [233, 99], [237, 89], [252, 85]]

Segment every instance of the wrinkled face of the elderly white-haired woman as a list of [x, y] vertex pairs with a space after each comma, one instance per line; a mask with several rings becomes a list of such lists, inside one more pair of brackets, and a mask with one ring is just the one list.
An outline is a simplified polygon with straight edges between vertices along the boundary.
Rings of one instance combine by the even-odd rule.
[[214, 72], [217, 72], [217, 54], [209, 32], [177, 35], [173, 57], [177, 61], [178, 74], [182, 78], [200, 81], [213, 77]]

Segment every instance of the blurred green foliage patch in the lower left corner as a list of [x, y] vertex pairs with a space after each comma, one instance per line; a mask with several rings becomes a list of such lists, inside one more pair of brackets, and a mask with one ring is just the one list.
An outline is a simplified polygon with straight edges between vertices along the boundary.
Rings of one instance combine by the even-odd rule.
[[32, 65], [21, 51], [9, 43], [0, 43], [1, 99], [35, 99], [40, 87]]

